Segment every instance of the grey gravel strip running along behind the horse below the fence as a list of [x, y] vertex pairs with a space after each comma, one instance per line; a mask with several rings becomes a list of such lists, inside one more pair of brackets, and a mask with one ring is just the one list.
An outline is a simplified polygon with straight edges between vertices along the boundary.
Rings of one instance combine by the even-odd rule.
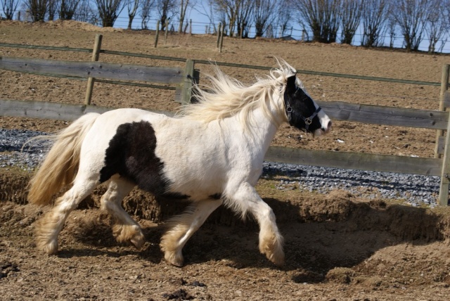
[[[32, 137], [45, 134], [0, 129], [0, 167], [17, 166], [32, 171], [43, 160], [49, 141], [32, 141], [21, 151], [22, 147]], [[264, 162], [262, 177], [274, 176], [279, 181], [278, 189], [318, 193], [342, 189], [355, 196], [404, 200], [413, 206], [434, 207], [439, 193], [439, 177]]]

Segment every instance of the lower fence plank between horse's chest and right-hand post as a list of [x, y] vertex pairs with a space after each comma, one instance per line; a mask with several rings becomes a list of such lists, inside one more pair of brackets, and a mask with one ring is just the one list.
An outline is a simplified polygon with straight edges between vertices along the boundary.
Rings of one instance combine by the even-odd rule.
[[442, 159], [413, 158], [398, 155], [369, 153], [311, 151], [301, 148], [271, 146], [264, 158], [266, 161], [297, 165], [335, 167], [342, 169], [371, 170], [375, 172], [397, 172], [439, 176]]

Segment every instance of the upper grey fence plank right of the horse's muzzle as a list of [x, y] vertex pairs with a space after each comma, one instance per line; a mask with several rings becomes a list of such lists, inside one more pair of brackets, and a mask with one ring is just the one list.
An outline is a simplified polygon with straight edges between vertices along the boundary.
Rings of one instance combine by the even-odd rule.
[[449, 113], [437, 110], [360, 105], [341, 101], [317, 101], [317, 103], [334, 120], [424, 129], [446, 129], [449, 120]]

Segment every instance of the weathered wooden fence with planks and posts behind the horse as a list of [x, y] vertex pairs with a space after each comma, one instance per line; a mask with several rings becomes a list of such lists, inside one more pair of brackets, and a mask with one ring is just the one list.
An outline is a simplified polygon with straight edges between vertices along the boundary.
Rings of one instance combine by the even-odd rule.
[[[101, 43], [96, 42], [100, 45]], [[32, 46], [17, 44], [0, 44], [0, 46], [26, 47]], [[40, 49], [56, 49], [56, 47], [38, 46]], [[57, 50], [86, 51], [86, 49], [57, 48]], [[195, 64], [210, 63], [206, 60], [186, 60], [183, 58], [167, 58], [160, 56], [143, 55], [139, 53], [120, 53], [100, 49], [87, 49], [93, 53], [91, 62], [71, 62], [62, 60], [44, 60], [31, 58], [0, 57], [0, 68], [17, 72], [29, 72], [39, 75], [69, 76], [79, 79], [92, 78], [96, 82], [112, 84], [129, 84], [141, 87], [153, 87], [176, 90], [176, 99], [180, 102], [189, 102], [193, 81], [198, 81], [198, 72]], [[186, 62], [186, 68], [155, 68], [143, 65], [127, 65], [96, 62], [95, 53], [111, 53], [127, 56], [140, 56], [146, 58], [169, 59]], [[98, 56], [97, 56], [98, 58]], [[238, 68], [253, 68], [269, 70], [269, 67], [238, 65], [232, 63], [217, 63]], [[450, 122], [446, 108], [450, 107], [449, 65], [444, 65], [442, 82], [418, 82], [402, 79], [386, 79], [380, 77], [361, 77], [341, 75], [335, 73], [313, 72], [297, 70], [299, 73], [333, 77], [347, 77], [364, 80], [381, 80], [401, 82], [404, 84], [423, 84], [441, 87], [441, 100], [439, 110], [415, 110], [406, 108], [392, 108], [377, 105], [359, 105], [345, 102], [319, 102], [327, 114], [334, 120], [347, 120], [370, 124], [385, 124], [399, 127], [416, 127], [437, 130], [435, 158], [413, 158], [398, 155], [379, 155], [354, 152], [310, 151], [298, 148], [271, 147], [266, 153], [265, 160], [284, 162], [298, 165], [314, 165], [323, 167], [336, 167], [342, 169], [361, 169], [377, 172], [397, 172], [406, 174], [422, 174], [441, 177], [439, 189], [439, 204], [448, 205], [450, 186]], [[155, 76], [157, 75], [157, 76]], [[117, 79], [120, 82], [111, 81]], [[139, 84], [129, 81], [153, 82], [174, 84], [175, 87], [157, 86], [155, 84]], [[89, 85], [88, 85], [88, 89]], [[87, 95], [88, 93], [86, 93]], [[103, 113], [113, 108], [101, 108], [89, 105], [68, 105], [63, 103], [49, 103], [41, 101], [14, 101], [0, 100], [0, 115], [16, 117], [34, 117], [56, 120], [75, 120], [88, 112]], [[440, 158], [442, 157], [442, 158]]]

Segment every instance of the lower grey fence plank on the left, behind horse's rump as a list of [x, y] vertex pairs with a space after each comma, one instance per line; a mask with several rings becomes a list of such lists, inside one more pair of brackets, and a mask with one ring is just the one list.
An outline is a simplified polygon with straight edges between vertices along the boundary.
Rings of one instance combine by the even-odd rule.
[[[51, 120], [76, 120], [86, 113], [105, 113], [115, 108], [98, 107], [96, 105], [72, 105], [68, 103], [50, 103], [44, 101], [11, 101], [0, 100], [1, 116], [29, 117]], [[151, 112], [173, 115], [166, 111]]]

